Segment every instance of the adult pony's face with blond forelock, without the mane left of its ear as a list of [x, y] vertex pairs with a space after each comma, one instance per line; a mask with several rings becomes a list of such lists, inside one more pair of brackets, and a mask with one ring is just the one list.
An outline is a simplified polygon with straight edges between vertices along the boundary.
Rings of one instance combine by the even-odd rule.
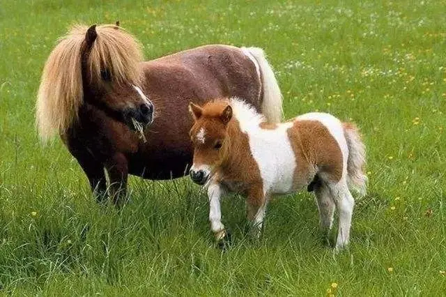
[[134, 129], [153, 121], [153, 104], [141, 90], [139, 43], [119, 26], [91, 26], [82, 47], [84, 98]]

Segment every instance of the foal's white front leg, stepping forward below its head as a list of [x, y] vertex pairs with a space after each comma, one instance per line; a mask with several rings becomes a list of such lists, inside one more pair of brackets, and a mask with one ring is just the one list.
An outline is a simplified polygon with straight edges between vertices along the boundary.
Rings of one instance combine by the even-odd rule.
[[208, 186], [209, 198], [209, 221], [210, 229], [215, 235], [217, 242], [227, 239], [227, 233], [222, 224], [222, 211], [220, 209], [220, 197], [224, 195], [224, 189], [218, 183], [211, 183]]

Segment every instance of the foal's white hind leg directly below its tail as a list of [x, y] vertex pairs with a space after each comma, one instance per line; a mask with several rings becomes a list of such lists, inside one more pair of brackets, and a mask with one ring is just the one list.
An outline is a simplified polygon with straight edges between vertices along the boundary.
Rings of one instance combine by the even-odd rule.
[[329, 183], [330, 195], [336, 204], [339, 213], [339, 227], [336, 241], [336, 249], [345, 248], [350, 241], [351, 217], [355, 200], [348, 190], [345, 178], [339, 183]]

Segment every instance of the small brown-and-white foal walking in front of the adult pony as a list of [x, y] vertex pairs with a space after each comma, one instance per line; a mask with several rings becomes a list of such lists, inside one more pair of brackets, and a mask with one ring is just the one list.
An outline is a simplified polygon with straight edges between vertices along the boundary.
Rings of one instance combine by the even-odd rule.
[[190, 137], [194, 164], [190, 176], [205, 185], [209, 219], [218, 241], [226, 231], [220, 197], [238, 192], [247, 197], [247, 216], [259, 236], [272, 195], [314, 190], [321, 227], [332, 227], [339, 211], [336, 248], [348, 244], [355, 201], [348, 185], [365, 194], [365, 148], [357, 128], [330, 114], [309, 113], [286, 123], [267, 123], [253, 107], [237, 98], [190, 104], [194, 125]]

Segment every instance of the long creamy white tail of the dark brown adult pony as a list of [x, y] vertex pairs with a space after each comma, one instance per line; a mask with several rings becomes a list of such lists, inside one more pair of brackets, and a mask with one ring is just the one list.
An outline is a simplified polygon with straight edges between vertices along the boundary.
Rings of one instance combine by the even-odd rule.
[[272, 67], [266, 59], [265, 53], [259, 47], [242, 47], [242, 50], [248, 52], [256, 60], [262, 79], [263, 100], [262, 113], [270, 123], [279, 123], [282, 121], [282, 93], [279, 84], [272, 71]]

